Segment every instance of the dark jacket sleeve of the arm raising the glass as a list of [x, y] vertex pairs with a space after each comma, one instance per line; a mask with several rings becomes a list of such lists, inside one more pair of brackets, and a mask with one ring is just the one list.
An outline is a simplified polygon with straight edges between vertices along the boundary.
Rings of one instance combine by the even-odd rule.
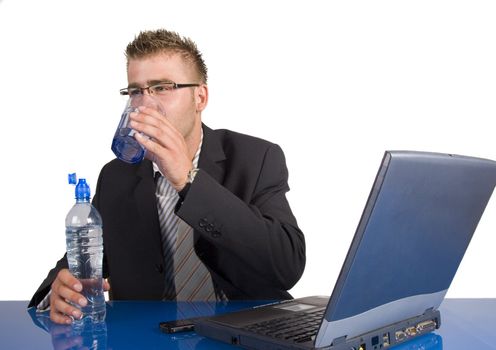
[[271, 144], [249, 198], [239, 198], [200, 169], [177, 215], [207, 241], [205, 251], [197, 245], [198, 256], [238, 289], [288, 290], [305, 267], [305, 240], [288, 190], [284, 154]]

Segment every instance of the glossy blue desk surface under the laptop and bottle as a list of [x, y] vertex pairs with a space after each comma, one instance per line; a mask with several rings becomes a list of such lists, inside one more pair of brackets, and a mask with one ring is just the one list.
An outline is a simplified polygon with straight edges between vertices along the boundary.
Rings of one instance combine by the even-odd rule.
[[[167, 335], [160, 321], [238, 310], [261, 302], [107, 303], [106, 322], [75, 330], [27, 310], [27, 301], [0, 301], [0, 349], [236, 349], [187, 332]], [[395, 350], [496, 349], [496, 299], [446, 299], [441, 328]]]

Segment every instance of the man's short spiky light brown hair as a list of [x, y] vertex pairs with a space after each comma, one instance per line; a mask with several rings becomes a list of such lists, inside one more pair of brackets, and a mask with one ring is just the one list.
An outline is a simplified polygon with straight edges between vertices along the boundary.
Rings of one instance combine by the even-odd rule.
[[126, 58], [140, 59], [159, 53], [179, 53], [196, 68], [202, 83], [207, 83], [207, 66], [195, 42], [165, 29], [142, 31], [126, 47]]

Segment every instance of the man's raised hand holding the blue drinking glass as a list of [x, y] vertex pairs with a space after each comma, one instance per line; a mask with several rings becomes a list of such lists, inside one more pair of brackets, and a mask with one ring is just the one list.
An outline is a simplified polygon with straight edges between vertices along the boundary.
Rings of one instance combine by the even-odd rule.
[[186, 185], [192, 168], [191, 155], [183, 135], [158, 111], [140, 107], [139, 113], [131, 113], [131, 127], [150, 137], [136, 133], [138, 142], [146, 148], [146, 157], [159, 167], [171, 185], [180, 191]]

